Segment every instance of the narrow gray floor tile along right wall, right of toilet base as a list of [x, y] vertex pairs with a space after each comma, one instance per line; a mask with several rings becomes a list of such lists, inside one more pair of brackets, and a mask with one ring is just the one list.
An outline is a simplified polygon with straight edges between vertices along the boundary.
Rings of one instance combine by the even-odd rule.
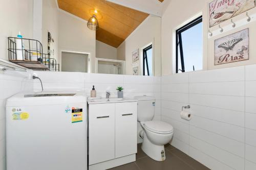
[[177, 156], [178, 158], [180, 158], [182, 161], [186, 162], [189, 166], [193, 167], [194, 169], [209, 170], [208, 167], [204, 166], [202, 163], [200, 163], [197, 160], [191, 158], [190, 156], [188, 156], [187, 154], [185, 154], [184, 152], [182, 152], [178, 149], [170, 150], [168, 152]]

